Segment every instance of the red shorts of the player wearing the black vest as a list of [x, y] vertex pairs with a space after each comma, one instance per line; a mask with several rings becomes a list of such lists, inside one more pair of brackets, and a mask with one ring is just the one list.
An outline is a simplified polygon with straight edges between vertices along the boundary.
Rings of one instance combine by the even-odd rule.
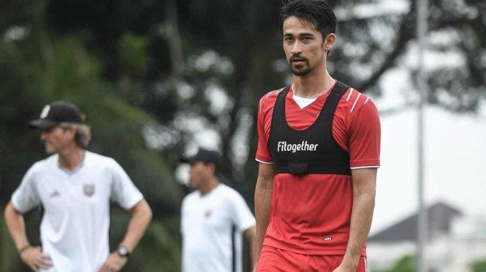
[[[256, 272], [333, 272], [344, 256], [302, 255], [263, 246]], [[356, 272], [367, 271], [366, 257], [360, 257]]]

